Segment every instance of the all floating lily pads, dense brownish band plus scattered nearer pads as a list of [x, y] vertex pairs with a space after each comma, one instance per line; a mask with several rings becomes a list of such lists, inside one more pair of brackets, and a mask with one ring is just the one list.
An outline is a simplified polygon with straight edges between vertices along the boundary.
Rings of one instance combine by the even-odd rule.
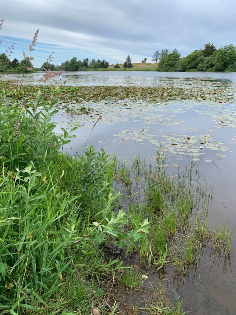
[[[113, 135], [115, 140], [132, 140], [136, 145], [145, 145], [146, 141], [149, 141], [158, 148], [162, 147], [169, 156], [178, 160], [188, 155], [199, 161], [206, 155], [204, 161], [212, 162], [212, 158], [207, 156], [208, 150], [215, 152], [218, 159], [225, 157], [222, 152], [231, 151], [231, 148], [225, 142], [214, 139], [211, 134], [222, 127], [236, 129], [234, 84], [186, 79], [180, 80], [176, 86], [171, 86], [171, 78], [159, 80], [160, 86], [157, 87], [60, 86], [57, 92], [60, 99], [57, 107], [61, 110], [60, 115], [70, 114], [87, 128], [91, 128], [97, 118], [102, 116], [100, 123], [115, 124], [116, 127], [119, 124], [121, 132]], [[177, 82], [177, 78], [174, 82]], [[18, 83], [4, 81], [4, 84], [12, 101], [17, 99]], [[42, 89], [42, 86], [24, 85], [20, 91], [20, 99], [27, 104], [27, 100], [39, 89]], [[50, 85], [45, 86], [46, 99], [52, 89]], [[183, 117], [190, 111], [194, 127], [186, 129]], [[209, 125], [197, 129], [200, 124], [196, 113], [210, 117]], [[165, 128], [162, 127], [164, 125]], [[163, 135], [166, 128], [169, 128], [170, 132]], [[178, 128], [178, 134], [171, 132], [171, 128]], [[184, 128], [188, 130], [186, 134], [183, 133]], [[236, 136], [231, 139], [228, 143], [235, 144]], [[102, 143], [102, 140], [104, 139], [98, 143]], [[179, 165], [174, 164], [173, 166]]]

